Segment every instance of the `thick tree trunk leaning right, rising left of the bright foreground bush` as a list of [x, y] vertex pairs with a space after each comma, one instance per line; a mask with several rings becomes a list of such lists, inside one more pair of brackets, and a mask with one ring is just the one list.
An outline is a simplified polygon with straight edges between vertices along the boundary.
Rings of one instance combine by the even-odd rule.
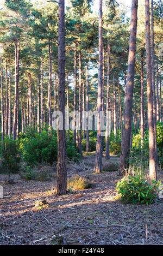
[[126, 103], [124, 106], [124, 128], [121, 145], [121, 158], [119, 166], [119, 174], [125, 175], [125, 169], [129, 167], [130, 153], [130, 134], [132, 122], [132, 106], [133, 106], [133, 87], [135, 73], [135, 52], [136, 52], [136, 30], [137, 30], [137, 0], [132, 0], [131, 22], [130, 22], [130, 40], [128, 53], [128, 70], [127, 70], [127, 88]]

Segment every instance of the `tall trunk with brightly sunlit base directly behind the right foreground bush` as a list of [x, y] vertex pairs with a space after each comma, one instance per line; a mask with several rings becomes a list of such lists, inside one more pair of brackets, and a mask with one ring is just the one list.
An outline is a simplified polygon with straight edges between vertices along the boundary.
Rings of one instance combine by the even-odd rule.
[[149, 178], [157, 179], [154, 117], [153, 117], [153, 87], [152, 87], [152, 64], [151, 64], [151, 37], [149, 21], [149, 0], [145, 0], [146, 13], [146, 58], [147, 58], [147, 99], [148, 99], [148, 127], [149, 127]]

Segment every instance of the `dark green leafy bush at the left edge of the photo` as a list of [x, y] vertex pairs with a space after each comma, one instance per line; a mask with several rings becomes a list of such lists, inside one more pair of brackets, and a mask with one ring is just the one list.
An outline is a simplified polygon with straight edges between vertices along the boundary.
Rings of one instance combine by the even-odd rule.
[[1, 165], [2, 170], [9, 172], [18, 171], [18, 163], [20, 162], [20, 156], [17, 150], [17, 140], [4, 139], [3, 146], [1, 147]]

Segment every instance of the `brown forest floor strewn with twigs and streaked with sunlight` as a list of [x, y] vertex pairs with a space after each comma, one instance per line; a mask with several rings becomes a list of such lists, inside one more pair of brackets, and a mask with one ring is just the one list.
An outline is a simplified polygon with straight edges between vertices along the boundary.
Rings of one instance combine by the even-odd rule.
[[[111, 160], [118, 162], [116, 156]], [[15, 183], [4, 184], [7, 175], [0, 175], [0, 245], [51, 245], [56, 235], [69, 245], [163, 244], [163, 200], [124, 205], [116, 198], [115, 184], [121, 178], [117, 172], [93, 173], [95, 156], [82, 161], [83, 170], [68, 165], [68, 177], [78, 173], [93, 187], [61, 196], [51, 194], [56, 178], [26, 181], [13, 174]], [[48, 205], [36, 209], [36, 200], [47, 200]]]

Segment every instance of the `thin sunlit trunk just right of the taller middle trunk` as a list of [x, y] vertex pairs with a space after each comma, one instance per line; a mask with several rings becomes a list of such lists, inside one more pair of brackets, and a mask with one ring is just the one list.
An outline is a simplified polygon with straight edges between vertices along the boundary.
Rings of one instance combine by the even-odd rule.
[[106, 132], [105, 132], [105, 154], [106, 159], [110, 159], [109, 151], [109, 110], [110, 110], [110, 45], [108, 44], [108, 70], [107, 70], [107, 88], [106, 88]]

